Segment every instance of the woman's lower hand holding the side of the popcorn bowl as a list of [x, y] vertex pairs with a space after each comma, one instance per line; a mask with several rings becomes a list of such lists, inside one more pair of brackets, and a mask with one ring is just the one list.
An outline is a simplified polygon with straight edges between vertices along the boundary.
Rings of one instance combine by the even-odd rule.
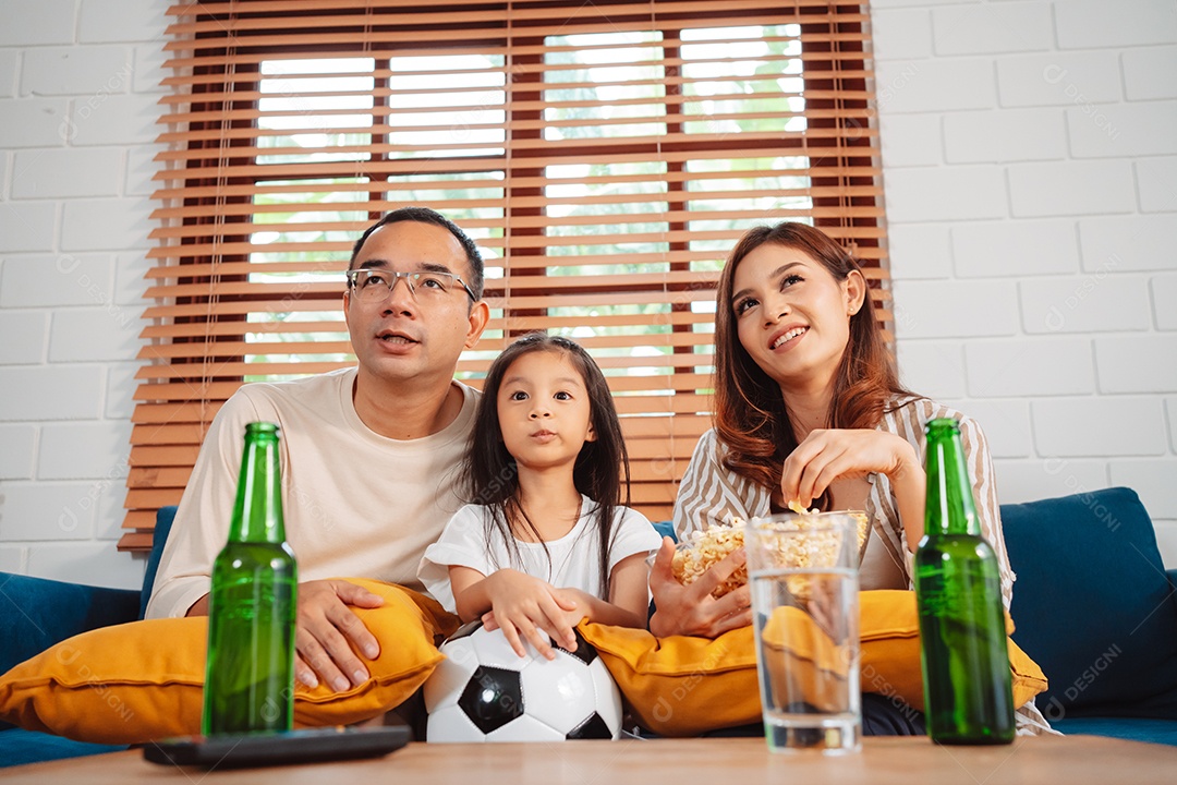
[[699, 636], [718, 638], [723, 633], [752, 624], [750, 590], [747, 586], [724, 594], [711, 596], [716, 586], [727, 580], [744, 564], [744, 551], [734, 551], [699, 576], [690, 586], [674, 578], [671, 563], [674, 540], [663, 538], [661, 548], [650, 570], [650, 591], [657, 606], [650, 618], [650, 632], [658, 638], [666, 636]]

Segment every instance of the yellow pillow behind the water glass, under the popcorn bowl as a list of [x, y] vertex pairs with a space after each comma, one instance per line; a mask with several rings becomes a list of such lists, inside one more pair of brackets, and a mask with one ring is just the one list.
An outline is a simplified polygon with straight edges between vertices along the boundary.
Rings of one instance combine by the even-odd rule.
[[[862, 592], [859, 613], [862, 691], [897, 698], [923, 711], [915, 592]], [[689, 636], [658, 639], [645, 630], [586, 623], [580, 631], [597, 647], [641, 725], [656, 733], [694, 736], [760, 720], [756, 641], [750, 626], [713, 640]], [[1006, 631], [1012, 632], [1012, 624], [1008, 623]], [[1046, 677], [1012, 640], [1009, 651], [1013, 704], [1022, 706], [1046, 688]], [[794, 654], [823, 661], [822, 652]]]

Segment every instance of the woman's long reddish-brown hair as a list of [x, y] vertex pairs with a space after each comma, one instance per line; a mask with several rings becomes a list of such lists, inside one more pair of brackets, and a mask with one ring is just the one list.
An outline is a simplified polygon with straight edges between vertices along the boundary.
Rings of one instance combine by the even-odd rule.
[[[736, 267], [767, 242], [805, 253], [839, 282], [853, 271], [862, 273], [862, 268], [820, 229], [785, 221], [750, 229], [732, 248], [720, 273], [716, 295], [714, 426], [719, 441], [727, 447], [723, 465], [771, 491], [780, 485], [782, 465], [797, 448], [797, 437], [780, 386], [739, 342], [731, 301]], [[850, 317], [850, 339], [834, 379], [825, 427], [873, 428], [895, 395], [910, 397], [912, 393], [899, 385], [867, 292], [863, 307]]]

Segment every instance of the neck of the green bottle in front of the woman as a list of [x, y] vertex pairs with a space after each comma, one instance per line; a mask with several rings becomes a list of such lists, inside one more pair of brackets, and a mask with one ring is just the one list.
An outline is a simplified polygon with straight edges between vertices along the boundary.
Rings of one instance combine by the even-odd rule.
[[927, 499], [924, 531], [929, 534], [980, 535], [972, 483], [965, 468], [960, 428], [956, 420], [927, 424]]

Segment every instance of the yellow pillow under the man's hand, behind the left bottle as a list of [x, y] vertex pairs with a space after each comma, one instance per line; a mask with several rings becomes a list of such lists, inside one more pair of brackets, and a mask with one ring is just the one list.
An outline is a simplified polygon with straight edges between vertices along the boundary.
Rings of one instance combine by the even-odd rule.
[[[346, 692], [294, 694], [297, 726], [346, 725], [395, 707], [441, 660], [435, 641], [458, 626], [434, 600], [378, 580], [347, 579], [384, 598], [353, 608], [380, 641], [368, 679]], [[102, 627], [0, 677], [0, 719], [81, 741], [139, 744], [200, 732], [208, 620], [152, 619]]]

